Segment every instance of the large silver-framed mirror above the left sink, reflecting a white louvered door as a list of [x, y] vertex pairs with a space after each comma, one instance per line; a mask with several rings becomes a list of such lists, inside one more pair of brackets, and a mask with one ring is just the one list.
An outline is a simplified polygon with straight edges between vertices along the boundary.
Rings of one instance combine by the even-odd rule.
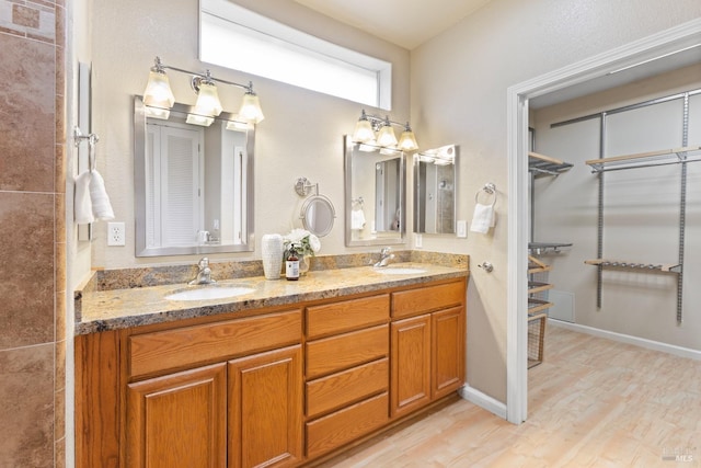
[[223, 112], [192, 125], [177, 103], [147, 111], [135, 96], [136, 256], [253, 251], [253, 127]]

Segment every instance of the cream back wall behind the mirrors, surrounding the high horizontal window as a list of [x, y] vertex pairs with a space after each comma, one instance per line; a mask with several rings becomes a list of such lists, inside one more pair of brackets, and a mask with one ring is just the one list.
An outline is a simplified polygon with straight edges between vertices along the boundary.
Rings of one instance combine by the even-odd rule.
[[[355, 47], [393, 64], [392, 119], [409, 119], [409, 52], [358, 30], [321, 16], [296, 2], [238, 1], [271, 18], [302, 28], [324, 39]], [[195, 263], [197, 256], [137, 259], [134, 255], [134, 150], [133, 95], [142, 94], [148, 70], [158, 55], [166, 65], [204, 71], [197, 59], [197, 0], [119, 2], [96, 1], [93, 12], [93, 110], [94, 132], [100, 135], [97, 167], [105, 178], [116, 220], [127, 227], [126, 247], [106, 247], [105, 224], [96, 226], [94, 267], [119, 269], [163, 263]], [[235, 46], [232, 47], [235, 54]], [[252, 80], [265, 121], [255, 136], [255, 237], [286, 233], [300, 226], [302, 199], [295, 193], [300, 176], [319, 183], [320, 192], [336, 207], [331, 233], [322, 238], [322, 254], [353, 252], [344, 247], [343, 135], [353, 132], [360, 110], [342, 99], [302, 90], [232, 70], [211, 67], [212, 75], [229, 81]], [[179, 102], [194, 104], [189, 77], [170, 71]], [[238, 109], [242, 92], [219, 87], [226, 110]], [[382, 112], [384, 114], [384, 112]], [[363, 249], [360, 249], [363, 250]], [[367, 249], [365, 249], [367, 250]], [[377, 249], [375, 249], [377, 250]], [[260, 259], [252, 253], [212, 254], [214, 262]]]

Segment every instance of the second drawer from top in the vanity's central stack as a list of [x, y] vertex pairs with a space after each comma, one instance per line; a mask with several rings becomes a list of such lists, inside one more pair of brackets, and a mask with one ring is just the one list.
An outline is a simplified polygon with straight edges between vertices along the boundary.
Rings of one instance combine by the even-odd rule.
[[389, 354], [389, 326], [307, 343], [307, 379], [347, 369]]

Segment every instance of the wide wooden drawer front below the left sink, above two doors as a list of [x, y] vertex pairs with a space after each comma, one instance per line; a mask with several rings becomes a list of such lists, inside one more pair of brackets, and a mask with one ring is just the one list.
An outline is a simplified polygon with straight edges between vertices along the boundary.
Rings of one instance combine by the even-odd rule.
[[299, 343], [302, 312], [291, 310], [129, 336], [129, 376], [226, 359]]

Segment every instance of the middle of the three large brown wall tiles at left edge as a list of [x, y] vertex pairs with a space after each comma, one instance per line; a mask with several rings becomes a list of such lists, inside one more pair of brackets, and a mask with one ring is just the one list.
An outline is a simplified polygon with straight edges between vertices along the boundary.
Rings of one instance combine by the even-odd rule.
[[0, 192], [0, 350], [54, 341], [54, 203]]

